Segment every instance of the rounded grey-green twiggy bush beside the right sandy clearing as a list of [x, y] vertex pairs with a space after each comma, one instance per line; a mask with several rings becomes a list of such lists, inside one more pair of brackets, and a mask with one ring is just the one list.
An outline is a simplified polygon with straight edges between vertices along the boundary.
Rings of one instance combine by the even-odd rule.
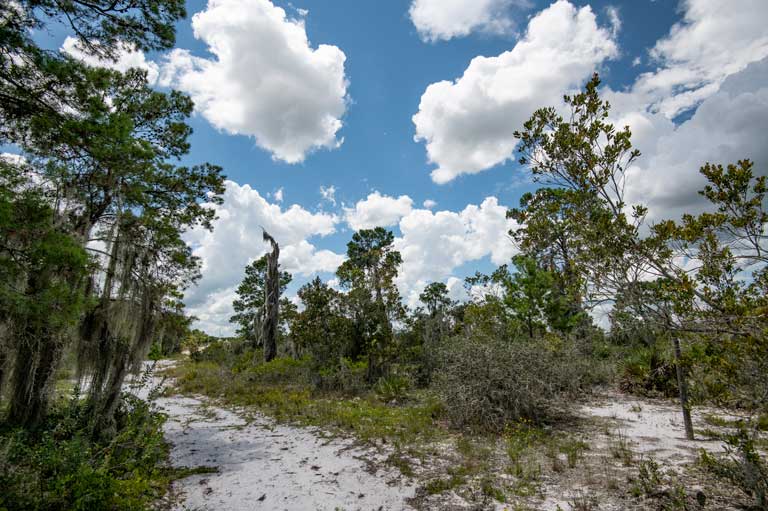
[[553, 339], [455, 339], [441, 354], [435, 387], [457, 428], [503, 431], [541, 422], [582, 386], [586, 368]]

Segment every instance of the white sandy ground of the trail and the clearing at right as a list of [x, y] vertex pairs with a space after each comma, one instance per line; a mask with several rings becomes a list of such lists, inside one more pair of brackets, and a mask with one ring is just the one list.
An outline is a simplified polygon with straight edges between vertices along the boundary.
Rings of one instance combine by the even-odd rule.
[[[410, 510], [408, 499], [424, 483], [418, 477], [403, 477], [396, 468], [386, 468], [386, 455], [348, 439], [331, 438], [321, 430], [223, 409], [203, 397], [170, 396], [156, 403], [169, 417], [165, 434], [173, 445], [172, 464], [218, 469], [174, 483], [174, 510]], [[703, 420], [708, 413], [724, 415], [717, 410], [696, 410], [696, 429], [709, 427]], [[626, 442], [635, 455], [652, 456], [669, 468], [682, 468], [701, 448], [710, 452], [722, 449], [718, 441], [685, 440], [674, 401], [608, 393], [582, 405], [579, 415], [593, 424], [585, 438], [590, 444], [586, 465], [570, 471], [570, 476], [564, 473], [545, 481], [535, 509], [571, 510], [574, 495], [593, 486], [589, 480], [603, 479], [611, 470], [634, 470], [619, 469], [611, 458], [611, 445], [617, 439]], [[611, 477], [614, 475], [619, 473]], [[603, 501], [600, 509], [628, 509], [623, 507], [625, 502], [611, 500]], [[514, 509], [500, 503], [476, 505], [448, 492], [420, 507]]]

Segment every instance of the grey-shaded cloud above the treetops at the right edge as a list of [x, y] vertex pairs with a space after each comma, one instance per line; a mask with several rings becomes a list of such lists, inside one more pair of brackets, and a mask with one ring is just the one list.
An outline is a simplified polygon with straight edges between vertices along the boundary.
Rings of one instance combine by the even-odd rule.
[[768, 173], [768, 58], [728, 77], [679, 125], [651, 112], [622, 120], [644, 153], [628, 170], [628, 202], [649, 205], [654, 220], [701, 211], [707, 205], [698, 194], [705, 184], [699, 173], [704, 163], [748, 158], [755, 161], [756, 173]]

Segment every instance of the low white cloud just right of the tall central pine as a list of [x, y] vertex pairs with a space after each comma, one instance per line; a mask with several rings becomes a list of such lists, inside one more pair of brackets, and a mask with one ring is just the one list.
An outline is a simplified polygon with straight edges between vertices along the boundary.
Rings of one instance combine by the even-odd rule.
[[487, 197], [458, 212], [415, 209], [404, 216], [395, 248], [403, 257], [397, 284], [406, 303], [415, 305], [424, 286], [445, 281], [467, 262], [485, 257], [494, 264], [508, 262], [516, 247], [507, 231], [517, 224], [506, 213], [496, 197]]

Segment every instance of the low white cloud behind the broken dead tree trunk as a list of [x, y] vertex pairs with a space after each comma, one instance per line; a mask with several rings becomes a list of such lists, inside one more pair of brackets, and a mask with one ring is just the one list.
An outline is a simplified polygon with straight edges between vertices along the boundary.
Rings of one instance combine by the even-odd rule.
[[318, 250], [311, 239], [336, 231], [340, 219], [324, 212], [310, 212], [298, 205], [283, 208], [272, 204], [249, 185], [226, 182], [224, 204], [208, 204], [216, 211], [213, 232], [194, 229], [184, 239], [202, 260], [203, 277], [191, 288], [185, 303], [200, 318], [208, 332], [230, 332], [234, 290], [243, 278], [245, 266], [266, 253], [261, 227], [280, 245], [282, 269], [294, 275], [310, 276], [333, 272], [344, 256]]

